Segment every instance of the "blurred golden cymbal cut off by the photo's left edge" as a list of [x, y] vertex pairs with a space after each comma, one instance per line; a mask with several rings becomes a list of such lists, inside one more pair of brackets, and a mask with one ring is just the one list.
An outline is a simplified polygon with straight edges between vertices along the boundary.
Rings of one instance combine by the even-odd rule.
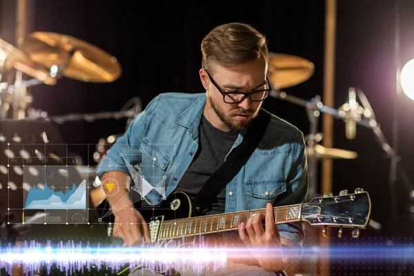
[[0, 66], [2, 63], [6, 70], [15, 68], [46, 84], [53, 85], [56, 83], [56, 79], [50, 77], [48, 69], [30, 61], [29, 57], [23, 51], [0, 39]]

